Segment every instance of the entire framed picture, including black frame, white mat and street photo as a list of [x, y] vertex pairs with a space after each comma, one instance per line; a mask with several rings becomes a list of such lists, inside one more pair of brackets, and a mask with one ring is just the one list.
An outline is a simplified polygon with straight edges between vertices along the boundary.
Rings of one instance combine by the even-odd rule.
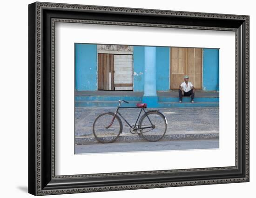
[[249, 16], [28, 13], [29, 193], [249, 182]]

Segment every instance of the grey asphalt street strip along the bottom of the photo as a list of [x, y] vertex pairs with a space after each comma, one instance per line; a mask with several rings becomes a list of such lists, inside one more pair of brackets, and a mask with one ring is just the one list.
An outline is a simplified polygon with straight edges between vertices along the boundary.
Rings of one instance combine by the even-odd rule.
[[142, 152], [188, 149], [217, 149], [219, 140], [158, 141], [158, 142], [113, 142], [109, 144], [75, 145], [75, 154], [107, 152]]

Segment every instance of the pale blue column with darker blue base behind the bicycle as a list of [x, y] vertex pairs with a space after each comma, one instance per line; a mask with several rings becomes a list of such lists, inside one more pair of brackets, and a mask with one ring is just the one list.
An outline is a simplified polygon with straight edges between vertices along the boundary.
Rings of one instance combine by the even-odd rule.
[[148, 107], [157, 107], [156, 94], [156, 47], [145, 47], [144, 51], [144, 95], [143, 103], [147, 103]]

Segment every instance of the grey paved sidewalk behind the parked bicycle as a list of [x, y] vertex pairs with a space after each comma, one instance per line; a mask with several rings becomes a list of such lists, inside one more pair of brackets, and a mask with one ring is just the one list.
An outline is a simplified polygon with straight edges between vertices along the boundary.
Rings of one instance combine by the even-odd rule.
[[[151, 110], [151, 109], [147, 109]], [[162, 141], [218, 139], [219, 108], [160, 108], [168, 121], [167, 132]], [[92, 126], [94, 119], [103, 112], [115, 112], [113, 107], [76, 107], [75, 108], [75, 144], [95, 143]], [[132, 125], [135, 124], [140, 109], [120, 109], [121, 114]], [[123, 132], [117, 141], [145, 141], [138, 134], [131, 134], [123, 122]]]

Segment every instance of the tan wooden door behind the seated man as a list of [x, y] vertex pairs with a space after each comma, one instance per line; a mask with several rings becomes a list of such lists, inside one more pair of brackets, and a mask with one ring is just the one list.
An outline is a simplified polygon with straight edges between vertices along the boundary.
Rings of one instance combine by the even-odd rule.
[[202, 89], [202, 48], [171, 47], [170, 89], [179, 89], [184, 75]]

